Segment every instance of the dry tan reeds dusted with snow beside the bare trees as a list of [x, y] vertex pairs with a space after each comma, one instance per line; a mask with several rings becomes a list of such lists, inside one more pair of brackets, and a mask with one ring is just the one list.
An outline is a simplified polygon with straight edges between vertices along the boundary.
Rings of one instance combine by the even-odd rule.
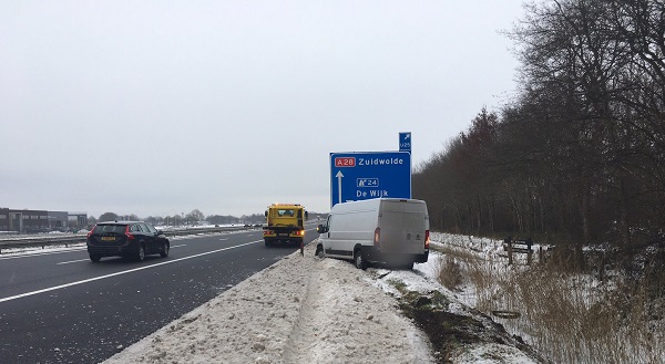
[[461, 277], [442, 279], [457, 281], [448, 284], [454, 295], [484, 313], [512, 315], [494, 320], [554, 362], [665, 363], [663, 297], [654, 297], [653, 280], [620, 271], [601, 277], [561, 260], [508, 266], [501, 241], [441, 233], [432, 240], [447, 257], [440, 272]]

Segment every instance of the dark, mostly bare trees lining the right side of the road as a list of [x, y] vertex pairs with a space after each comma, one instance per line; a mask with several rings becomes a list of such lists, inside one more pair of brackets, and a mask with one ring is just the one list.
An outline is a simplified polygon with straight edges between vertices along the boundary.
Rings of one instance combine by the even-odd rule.
[[[431, 225], [579, 243], [634, 243], [665, 226], [665, 3], [525, 4], [505, 32], [518, 93], [418, 166]], [[491, 60], [491, 58], [489, 58]]]

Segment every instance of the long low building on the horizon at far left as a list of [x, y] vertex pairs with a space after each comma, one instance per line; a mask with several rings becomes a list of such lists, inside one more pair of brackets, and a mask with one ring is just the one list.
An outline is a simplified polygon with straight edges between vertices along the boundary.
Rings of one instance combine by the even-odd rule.
[[[70, 216], [72, 215], [66, 211], [0, 208], [0, 231], [47, 232], [61, 230], [70, 225]], [[76, 227], [83, 227], [88, 223], [88, 216], [84, 212], [76, 212], [73, 216], [74, 221], [72, 222]]]

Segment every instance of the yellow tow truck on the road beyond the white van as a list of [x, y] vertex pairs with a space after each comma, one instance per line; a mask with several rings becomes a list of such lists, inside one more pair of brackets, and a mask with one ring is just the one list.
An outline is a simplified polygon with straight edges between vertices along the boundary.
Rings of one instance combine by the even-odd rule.
[[273, 204], [265, 212], [264, 241], [266, 247], [294, 243], [303, 247], [307, 210], [299, 204]]

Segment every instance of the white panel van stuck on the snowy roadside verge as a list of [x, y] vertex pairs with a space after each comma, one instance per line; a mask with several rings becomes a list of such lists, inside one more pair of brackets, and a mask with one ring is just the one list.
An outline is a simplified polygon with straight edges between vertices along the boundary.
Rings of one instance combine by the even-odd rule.
[[337, 204], [317, 228], [316, 254], [413, 268], [429, 257], [429, 215], [424, 201], [375, 198]]

